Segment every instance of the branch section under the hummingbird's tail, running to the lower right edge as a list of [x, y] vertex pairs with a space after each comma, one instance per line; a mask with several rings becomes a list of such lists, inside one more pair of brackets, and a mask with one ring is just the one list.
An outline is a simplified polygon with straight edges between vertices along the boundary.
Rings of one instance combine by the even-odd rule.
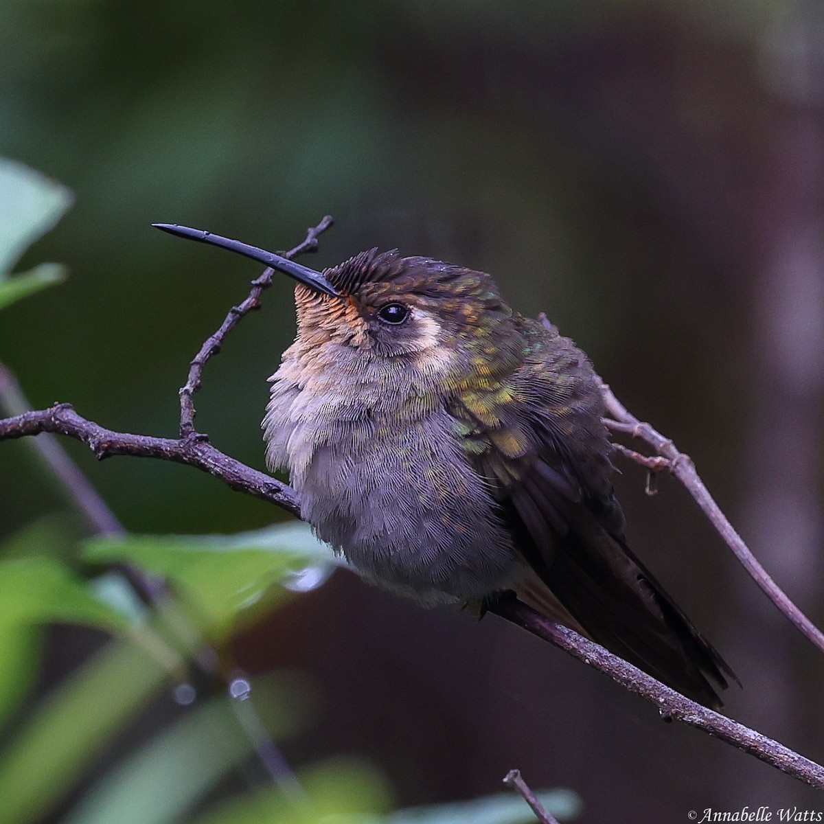
[[787, 775], [792, 775], [805, 784], [824, 789], [824, 767], [815, 761], [810, 761], [789, 747], [784, 747], [784, 744], [728, 719], [726, 715], [685, 698], [648, 676], [646, 672], [641, 672], [638, 667], [633, 667], [632, 664], [607, 652], [603, 647], [583, 638], [573, 630], [556, 624], [517, 601], [515, 597], [500, 599], [489, 611], [563, 649], [573, 658], [578, 658], [578, 661], [583, 661], [608, 675], [630, 692], [652, 701], [665, 719], [681, 721], [704, 730], [705, 733], [732, 744], [733, 747], [755, 756], [759, 761], [764, 761], [765, 764], [770, 764]]

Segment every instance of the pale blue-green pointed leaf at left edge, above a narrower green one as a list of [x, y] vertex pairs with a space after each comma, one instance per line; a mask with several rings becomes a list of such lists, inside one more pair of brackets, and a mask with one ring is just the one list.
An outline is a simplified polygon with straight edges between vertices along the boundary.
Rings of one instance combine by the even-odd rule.
[[71, 190], [22, 163], [0, 157], [0, 279], [72, 205]]

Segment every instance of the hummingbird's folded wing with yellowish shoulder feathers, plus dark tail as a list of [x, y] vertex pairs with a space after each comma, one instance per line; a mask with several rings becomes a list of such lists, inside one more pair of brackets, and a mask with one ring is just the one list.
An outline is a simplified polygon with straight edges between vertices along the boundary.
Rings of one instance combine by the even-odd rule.
[[[508, 381], [452, 401], [469, 460], [517, 550], [592, 639], [719, 706], [713, 682], [733, 672], [626, 545], [592, 367], [569, 339], [534, 328], [526, 339]], [[534, 586], [527, 595], [536, 602]]]

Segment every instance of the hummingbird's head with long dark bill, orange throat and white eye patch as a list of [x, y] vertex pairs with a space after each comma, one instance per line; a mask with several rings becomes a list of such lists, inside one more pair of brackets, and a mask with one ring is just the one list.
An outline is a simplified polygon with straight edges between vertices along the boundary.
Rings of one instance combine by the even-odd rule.
[[[222, 246], [297, 280], [297, 341], [371, 363], [407, 362], [460, 382], [512, 368], [513, 311], [488, 274], [397, 250], [372, 249], [330, 269], [307, 266], [199, 229], [156, 224]], [[400, 365], [400, 364], [398, 364]]]

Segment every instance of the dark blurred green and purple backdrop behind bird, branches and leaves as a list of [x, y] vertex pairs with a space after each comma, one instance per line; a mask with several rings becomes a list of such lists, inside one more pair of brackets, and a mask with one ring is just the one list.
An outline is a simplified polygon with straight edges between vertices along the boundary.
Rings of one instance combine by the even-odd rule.
[[[0, 359], [37, 408], [174, 435], [188, 361], [259, 268], [149, 224], [274, 250], [330, 213], [311, 265], [397, 246], [489, 271], [514, 307], [546, 311], [695, 459], [821, 624], [822, 45], [811, 0], [5, 0], [0, 154], [76, 200], [19, 266], [60, 261], [70, 278], [2, 312]], [[197, 397], [199, 428], [261, 469], [265, 378], [293, 334], [283, 283]], [[283, 519], [186, 467], [67, 446], [131, 531]], [[821, 761], [820, 655], [676, 484], [648, 499], [620, 466], [631, 543], [744, 683], [730, 713]], [[20, 442], [0, 445], [0, 515], [0, 538], [33, 521], [83, 534]], [[36, 694], [100, 643], [52, 630]], [[397, 806], [489, 794], [519, 766], [574, 789], [582, 822], [821, 808], [493, 617], [422, 611], [348, 573], [259, 616], [232, 659], [315, 685], [290, 763], [363, 758]], [[166, 703], [115, 761], [164, 728]]]

